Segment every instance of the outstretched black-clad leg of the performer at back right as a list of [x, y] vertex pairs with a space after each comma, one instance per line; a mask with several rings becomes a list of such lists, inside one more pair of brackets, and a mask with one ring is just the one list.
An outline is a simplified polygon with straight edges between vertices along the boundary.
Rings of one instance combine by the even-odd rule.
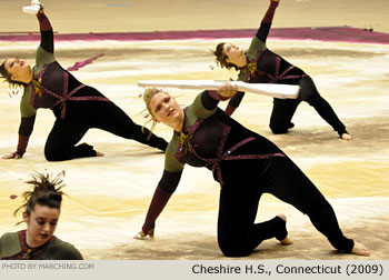
[[345, 124], [339, 120], [332, 107], [320, 96], [312, 79], [305, 77], [299, 81], [299, 99], [312, 106], [320, 117], [326, 120], [340, 137], [347, 133]]

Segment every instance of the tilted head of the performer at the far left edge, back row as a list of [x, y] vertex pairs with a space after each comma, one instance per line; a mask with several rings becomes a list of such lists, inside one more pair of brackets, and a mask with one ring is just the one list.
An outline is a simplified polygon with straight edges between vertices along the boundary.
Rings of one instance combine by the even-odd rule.
[[32, 80], [31, 66], [20, 58], [8, 58], [0, 66], [0, 74], [11, 86], [26, 87]]

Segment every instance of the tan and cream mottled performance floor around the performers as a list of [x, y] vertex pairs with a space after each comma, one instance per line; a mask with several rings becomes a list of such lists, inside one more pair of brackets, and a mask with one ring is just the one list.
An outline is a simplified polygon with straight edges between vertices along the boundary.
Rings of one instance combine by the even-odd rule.
[[[70, 33], [257, 28], [268, 6], [268, 1], [228, 1], [221, 6], [223, 1], [88, 0], [73, 10], [76, 2], [66, 1], [62, 6], [44, 1], [54, 30]], [[389, 32], [387, 1], [325, 2], [283, 0], [275, 27], [371, 24], [377, 31]], [[34, 19], [20, 12], [24, 1], [4, 3], [0, 14], [12, 17], [0, 23], [0, 32], [37, 31]], [[241, 14], [233, 22], [227, 16], [236, 7]], [[136, 122], [143, 123], [138, 80], [236, 78], [235, 72], [211, 70], [215, 63], [210, 50], [219, 41], [58, 42], [56, 57], [66, 68], [103, 52], [102, 58], [73, 74], [99, 89]], [[232, 42], [247, 48], [250, 39]], [[19, 56], [33, 63], [37, 44], [0, 41], [0, 59]], [[282, 247], [269, 240], [247, 259], [388, 259], [389, 46], [293, 40], [269, 40], [268, 46], [313, 78], [353, 140], [340, 140], [306, 103], [293, 117], [296, 127], [285, 136], [273, 136], [268, 128], [272, 106], [268, 97], [247, 94], [233, 117], [276, 142], [295, 160], [328, 198], [346, 236], [365, 243], [371, 257], [337, 253], [306, 216], [265, 196], [257, 220], [286, 213], [295, 243]], [[168, 90], [182, 106], [197, 94]], [[9, 98], [6, 83], [0, 83], [0, 154], [4, 154], [13, 152], [17, 146], [20, 97]], [[50, 110], [40, 110], [26, 156], [18, 161], [0, 160], [0, 234], [24, 228], [13, 226], [21, 217], [12, 217], [21, 200], [9, 197], [26, 190], [23, 182], [32, 171], [56, 174], [66, 170], [64, 191], [69, 197], [64, 198], [56, 234], [79, 248], [86, 259], [225, 259], [216, 239], [219, 186], [208, 170], [186, 167], [177, 192], [157, 221], [157, 242], [133, 240], [162, 173], [163, 154], [138, 142], [90, 130], [82, 141], [103, 152], [103, 158], [47, 162], [43, 147], [53, 120]], [[158, 126], [156, 133], [171, 138], [171, 131], [163, 126]]]

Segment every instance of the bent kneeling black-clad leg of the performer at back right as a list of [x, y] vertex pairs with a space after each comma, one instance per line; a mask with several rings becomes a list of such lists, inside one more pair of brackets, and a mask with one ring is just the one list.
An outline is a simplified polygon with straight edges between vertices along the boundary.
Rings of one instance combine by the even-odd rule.
[[299, 103], [297, 99], [273, 99], [269, 127], [275, 134], [287, 133], [295, 126], [291, 119]]

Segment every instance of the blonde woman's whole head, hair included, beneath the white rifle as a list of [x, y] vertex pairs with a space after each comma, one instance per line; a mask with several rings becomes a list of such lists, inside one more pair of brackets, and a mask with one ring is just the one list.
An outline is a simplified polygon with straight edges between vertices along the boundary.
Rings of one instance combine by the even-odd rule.
[[143, 93], [143, 101], [154, 121], [180, 130], [179, 127], [183, 123], [183, 110], [169, 93], [148, 88]]

